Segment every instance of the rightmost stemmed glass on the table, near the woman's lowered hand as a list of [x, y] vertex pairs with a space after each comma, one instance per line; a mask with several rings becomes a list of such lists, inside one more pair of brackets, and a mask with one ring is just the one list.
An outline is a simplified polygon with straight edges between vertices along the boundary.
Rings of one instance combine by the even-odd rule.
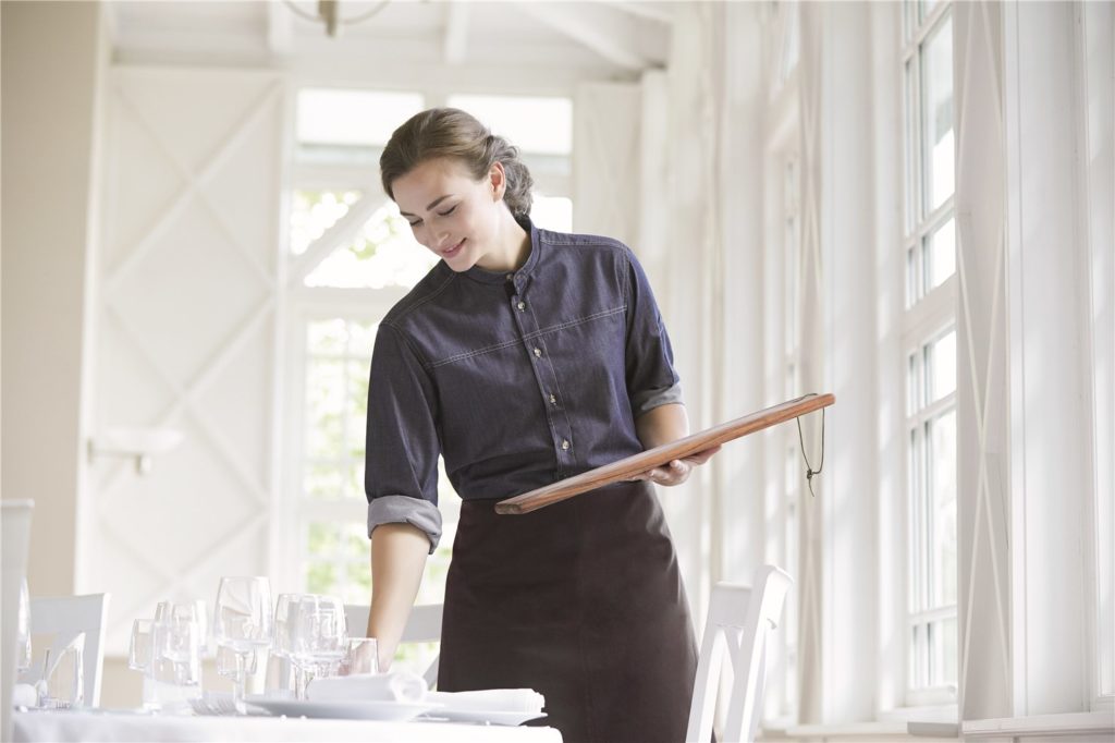
[[306, 698], [307, 674], [330, 674], [348, 653], [345, 604], [333, 596], [306, 595], [291, 605], [290, 655], [299, 674], [298, 698]]

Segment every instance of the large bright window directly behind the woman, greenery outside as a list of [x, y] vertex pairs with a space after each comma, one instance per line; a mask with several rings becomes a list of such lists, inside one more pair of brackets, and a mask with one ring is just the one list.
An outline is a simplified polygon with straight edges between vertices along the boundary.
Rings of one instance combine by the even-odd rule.
[[[535, 175], [532, 219], [569, 230], [568, 99], [453, 97], [522, 146]], [[287, 231], [291, 334], [284, 524], [287, 581], [366, 604], [371, 590], [363, 492], [368, 370], [379, 319], [436, 263], [414, 240], [376, 170], [391, 132], [425, 106], [418, 93], [306, 88], [297, 97]], [[537, 124], [539, 120], [545, 126]], [[542, 192], [544, 190], [544, 192]], [[444, 599], [459, 499], [442, 465], [443, 537], [418, 604]], [[404, 646], [424, 669], [433, 647]]]

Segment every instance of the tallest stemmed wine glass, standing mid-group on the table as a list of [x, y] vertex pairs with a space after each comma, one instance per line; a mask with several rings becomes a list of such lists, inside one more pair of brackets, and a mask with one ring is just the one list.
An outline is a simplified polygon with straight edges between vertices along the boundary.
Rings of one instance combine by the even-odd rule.
[[216, 644], [235, 654], [233, 703], [244, 705], [245, 666], [258, 648], [271, 644], [271, 586], [263, 577], [222, 578], [213, 617]]

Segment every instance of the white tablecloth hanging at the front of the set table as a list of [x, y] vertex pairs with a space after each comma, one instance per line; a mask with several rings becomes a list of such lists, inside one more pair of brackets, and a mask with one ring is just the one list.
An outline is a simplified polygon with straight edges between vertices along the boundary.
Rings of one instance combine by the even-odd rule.
[[58, 741], [359, 741], [360, 743], [561, 743], [553, 727], [439, 722], [192, 717], [113, 712], [17, 712], [14, 740]]

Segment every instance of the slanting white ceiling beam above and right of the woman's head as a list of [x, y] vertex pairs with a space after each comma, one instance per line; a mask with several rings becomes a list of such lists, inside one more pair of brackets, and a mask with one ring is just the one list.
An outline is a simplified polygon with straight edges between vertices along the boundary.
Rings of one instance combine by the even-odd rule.
[[637, 25], [626, 16], [602, 6], [571, 8], [554, 2], [508, 3], [614, 65], [632, 70], [642, 70], [652, 64], [638, 49]]

